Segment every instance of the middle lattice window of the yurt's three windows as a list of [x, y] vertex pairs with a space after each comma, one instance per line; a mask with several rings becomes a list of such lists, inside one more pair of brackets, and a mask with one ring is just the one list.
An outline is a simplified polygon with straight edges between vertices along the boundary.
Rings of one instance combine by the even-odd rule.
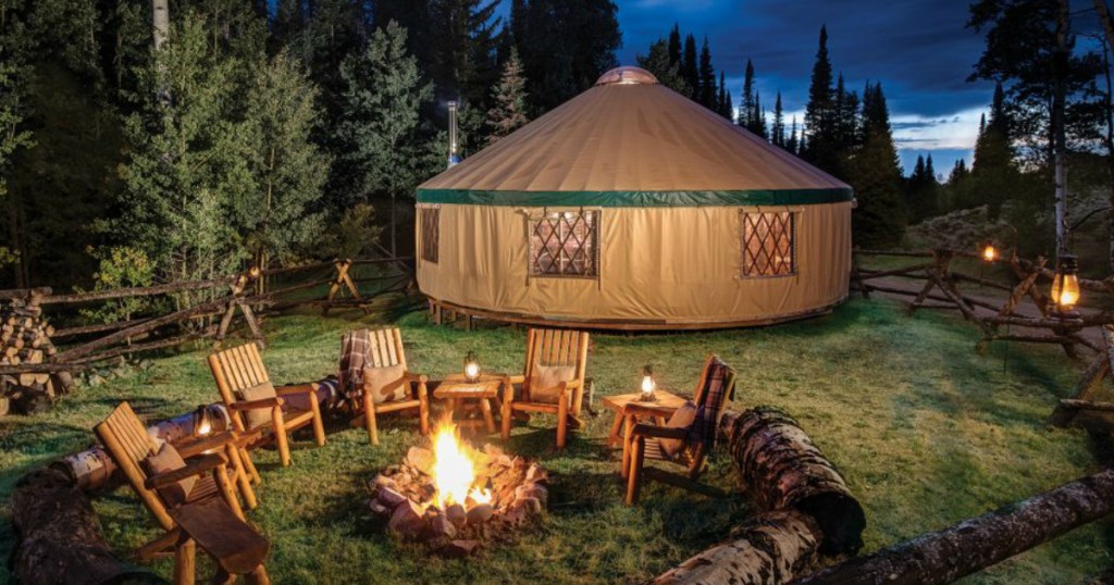
[[530, 275], [599, 276], [598, 211], [547, 212], [530, 218]]

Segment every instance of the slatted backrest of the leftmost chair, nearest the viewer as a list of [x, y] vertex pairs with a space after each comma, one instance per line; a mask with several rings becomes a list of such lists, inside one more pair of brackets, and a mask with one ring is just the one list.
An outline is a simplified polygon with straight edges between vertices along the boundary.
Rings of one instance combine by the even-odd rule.
[[167, 530], [174, 528], [174, 520], [158, 494], [144, 485], [147, 471], [143, 461], [155, 452], [156, 446], [131, 406], [120, 402], [108, 418], [94, 427], [94, 432], [158, 524]]

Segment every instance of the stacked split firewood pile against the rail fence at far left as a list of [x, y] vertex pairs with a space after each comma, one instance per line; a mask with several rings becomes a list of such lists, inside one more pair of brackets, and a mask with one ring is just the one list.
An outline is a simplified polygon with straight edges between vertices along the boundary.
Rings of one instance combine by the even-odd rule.
[[[40, 295], [31, 294], [0, 305], [0, 367], [42, 364], [58, 353], [50, 341], [55, 329], [42, 318], [40, 300]], [[23, 415], [47, 410], [72, 383], [70, 373], [63, 371], [0, 376], [0, 415], [9, 408]]]

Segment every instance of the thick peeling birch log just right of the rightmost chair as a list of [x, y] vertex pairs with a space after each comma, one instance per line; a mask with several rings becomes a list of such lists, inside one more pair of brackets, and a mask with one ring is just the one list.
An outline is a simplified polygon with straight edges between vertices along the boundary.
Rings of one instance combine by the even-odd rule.
[[795, 509], [815, 518], [823, 554], [862, 547], [862, 506], [792, 417], [770, 407], [727, 411], [720, 429], [759, 509]]

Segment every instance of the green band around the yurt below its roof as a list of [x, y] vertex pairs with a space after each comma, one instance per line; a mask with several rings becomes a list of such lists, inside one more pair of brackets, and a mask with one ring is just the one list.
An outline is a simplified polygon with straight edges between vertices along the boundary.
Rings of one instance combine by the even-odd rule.
[[418, 189], [418, 203], [574, 207], [817, 205], [849, 202], [850, 188], [750, 191], [472, 191]]

